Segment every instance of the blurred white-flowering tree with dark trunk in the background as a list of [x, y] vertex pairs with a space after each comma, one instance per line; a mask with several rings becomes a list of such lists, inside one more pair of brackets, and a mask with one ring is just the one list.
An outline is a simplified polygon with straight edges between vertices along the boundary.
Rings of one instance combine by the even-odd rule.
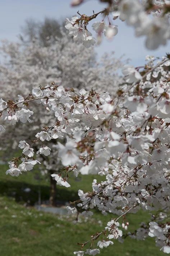
[[[47, 21], [45, 20], [45, 24]], [[52, 21], [54, 23], [54, 21]], [[32, 23], [31, 23], [32, 24]], [[30, 22], [28, 23], [30, 25]], [[31, 26], [31, 25], [30, 25]], [[29, 27], [29, 26], [28, 26]], [[36, 25], [34, 26], [34, 28]], [[30, 28], [31, 29], [31, 28]], [[41, 29], [42, 30], [42, 29]], [[33, 32], [27, 31], [27, 34]], [[0, 65], [0, 87], [1, 97], [5, 100], [15, 100], [18, 96], [27, 97], [32, 92], [37, 97], [42, 96], [39, 91], [33, 89], [39, 85], [43, 88], [47, 84], [62, 84], [69, 88], [88, 88], [98, 87], [99, 91], [107, 91], [107, 84], [110, 84], [110, 93], [114, 95], [118, 89], [118, 81], [120, 76], [116, 74], [117, 70], [123, 66], [121, 59], [114, 58], [114, 55], [103, 56], [101, 61], [97, 61], [94, 49], [86, 49], [82, 45], [73, 43], [68, 36], [60, 30], [62, 37], [54, 37], [44, 41], [41, 38], [29, 36], [27, 43], [12, 43], [4, 40], [1, 44], [1, 57], [4, 62]], [[46, 35], [46, 34], [45, 34]], [[41, 39], [41, 40], [40, 40]], [[45, 45], [44, 45], [45, 44]], [[55, 81], [55, 83], [53, 82]], [[39, 94], [40, 93], [40, 94]], [[31, 95], [30, 95], [31, 96]], [[34, 115], [31, 123], [17, 122], [15, 115], [8, 118], [8, 122], [15, 125], [13, 132], [11, 126], [6, 124], [5, 134], [0, 134], [0, 140], [3, 145], [3, 154], [9, 158], [9, 154], [16, 149], [18, 141], [30, 141], [37, 132], [49, 124], [53, 124], [53, 114], [51, 111], [44, 111], [44, 108], [37, 104], [32, 104]], [[52, 173], [57, 173], [61, 167], [60, 159], [53, 150], [53, 144], [56, 144], [57, 134], [50, 140], [51, 150], [50, 156], [40, 155], [37, 158], [42, 164], [40, 168], [45, 166], [45, 170], [50, 174], [50, 203], [56, 205], [56, 182], [51, 177]], [[62, 140], [65, 137], [62, 136]], [[61, 138], [60, 138], [61, 142]], [[35, 150], [37, 144], [35, 144]], [[38, 150], [38, 149], [37, 149]], [[58, 168], [56, 168], [58, 166]], [[44, 168], [42, 168], [44, 171]]]

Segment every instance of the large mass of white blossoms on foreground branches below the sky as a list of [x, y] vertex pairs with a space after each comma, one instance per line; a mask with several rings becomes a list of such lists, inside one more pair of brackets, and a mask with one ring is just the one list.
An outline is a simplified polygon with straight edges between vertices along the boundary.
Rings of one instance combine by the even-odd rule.
[[[166, 59], [159, 63], [160, 69], [165, 61]], [[139, 83], [144, 87], [145, 82], [140, 74], [138, 76], [138, 71], [132, 67], [125, 69], [125, 80], [133, 71], [131, 83]], [[164, 72], [162, 74], [165, 75]], [[73, 215], [80, 214], [88, 218], [93, 215], [90, 209], [94, 207], [103, 214], [107, 212], [118, 214], [119, 217], [107, 222], [105, 230], [101, 231], [101, 234], [105, 234], [105, 239], [99, 240], [97, 246], [104, 248], [113, 244], [112, 239], [121, 240], [123, 238], [121, 228], [127, 230], [129, 222], [123, 219], [120, 225], [118, 219], [125, 218], [128, 211], [135, 213], [139, 209], [152, 211], [169, 207], [170, 150], [167, 94], [170, 91], [167, 84], [162, 83], [160, 88], [163, 90], [158, 88], [158, 84], [157, 89], [154, 89], [156, 86], [153, 84], [154, 88], [145, 95], [144, 91], [138, 92], [132, 88], [123, 98], [120, 95], [115, 100], [112, 100], [108, 93], [98, 94], [96, 91], [85, 89], [75, 93], [72, 89], [64, 89], [62, 86], [52, 84], [42, 88], [42, 95], [40, 94], [39, 97], [32, 95], [31, 99], [23, 99], [22, 101], [26, 101], [29, 107], [31, 101], [37, 101], [46, 108], [44, 100], [46, 97], [51, 97], [48, 106], [53, 113], [53, 122], [35, 134], [36, 140], [19, 141], [18, 146], [23, 149], [23, 155], [9, 162], [6, 174], [18, 176], [22, 171], [29, 171], [35, 164], [40, 163], [33, 158], [32, 145], [37, 144], [37, 155], [48, 156], [52, 151], [52, 157], [57, 155], [61, 160], [62, 168], [59, 174], [51, 175], [59, 186], [66, 188], [71, 186], [70, 172], [75, 176], [80, 172], [105, 176], [105, 181], [100, 183], [93, 180], [92, 194], [79, 190], [80, 201], [75, 207], [68, 207], [68, 210]], [[157, 109], [155, 112], [151, 109], [153, 105]], [[23, 106], [18, 106], [15, 102], [6, 106], [1, 112], [4, 122], [10, 123], [11, 121], [6, 117], [12, 111], [15, 114], [20, 110], [23, 110]], [[28, 118], [27, 121], [29, 122]], [[51, 143], [50, 135], [53, 139], [62, 140], [65, 137], [66, 140], [63, 144], [57, 141], [51, 149], [47, 146]], [[47, 168], [50, 167], [47, 165]], [[166, 216], [163, 219], [166, 219]], [[157, 218], [161, 220], [160, 215]], [[162, 251], [168, 251], [168, 248], [164, 249], [164, 246], [167, 246], [166, 236], [169, 233], [166, 222], [160, 225], [154, 219], [148, 225], [141, 225], [135, 235], [129, 233], [129, 236], [137, 239], [155, 237]], [[86, 249], [86, 252], [75, 252], [77, 255], [98, 253], [100, 253], [98, 249], [91, 248]]]

